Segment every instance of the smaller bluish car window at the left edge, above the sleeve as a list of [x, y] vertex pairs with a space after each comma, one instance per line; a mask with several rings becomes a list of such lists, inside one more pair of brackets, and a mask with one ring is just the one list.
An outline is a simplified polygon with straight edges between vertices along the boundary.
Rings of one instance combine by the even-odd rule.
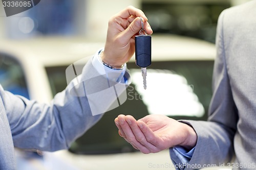
[[13, 57], [1, 53], [0, 83], [5, 90], [29, 99], [28, 87], [22, 66]]

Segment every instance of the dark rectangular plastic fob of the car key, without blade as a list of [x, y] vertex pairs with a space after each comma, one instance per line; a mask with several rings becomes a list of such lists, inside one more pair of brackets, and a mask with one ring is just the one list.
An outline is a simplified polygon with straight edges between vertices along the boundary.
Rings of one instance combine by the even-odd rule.
[[142, 68], [151, 65], [151, 36], [135, 36], [135, 62]]

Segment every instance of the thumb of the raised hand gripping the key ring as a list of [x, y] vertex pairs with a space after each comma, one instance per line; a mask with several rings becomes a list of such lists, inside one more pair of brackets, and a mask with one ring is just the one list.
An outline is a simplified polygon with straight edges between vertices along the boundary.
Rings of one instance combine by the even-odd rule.
[[[144, 23], [143, 18], [142, 18], [142, 20], [143, 20], [143, 23]], [[130, 25], [122, 32], [123, 38], [127, 39], [127, 40], [132, 38], [135, 34], [137, 34], [141, 30], [141, 28], [142, 28], [142, 26], [141, 26], [140, 17], [136, 17], [130, 23]]]

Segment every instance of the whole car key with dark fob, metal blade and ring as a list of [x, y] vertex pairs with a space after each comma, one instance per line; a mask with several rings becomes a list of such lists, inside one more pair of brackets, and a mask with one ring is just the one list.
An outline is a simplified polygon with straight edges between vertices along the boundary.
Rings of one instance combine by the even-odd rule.
[[[135, 62], [141, 67], [144, 89], [146, 89], [146, 67], [151, 65], [151, 36], [146, 34], [142, 17], [141, 30], [138, 36], [135, 36]], [[144, 34], [141, 34], [144, 32]]]

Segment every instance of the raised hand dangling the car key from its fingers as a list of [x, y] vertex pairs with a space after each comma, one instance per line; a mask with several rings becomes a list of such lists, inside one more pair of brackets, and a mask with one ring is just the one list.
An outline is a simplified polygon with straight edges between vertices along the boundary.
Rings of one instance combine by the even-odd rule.
[[145, 31], [152, 34], [145, 14], [133, 6], [125, 8], [109, 20], [105, 50], [101, 54], [104, 63], [119, 67], [131, 59], [135, 52], [135, 36], [141, 30], [140, 16]]

